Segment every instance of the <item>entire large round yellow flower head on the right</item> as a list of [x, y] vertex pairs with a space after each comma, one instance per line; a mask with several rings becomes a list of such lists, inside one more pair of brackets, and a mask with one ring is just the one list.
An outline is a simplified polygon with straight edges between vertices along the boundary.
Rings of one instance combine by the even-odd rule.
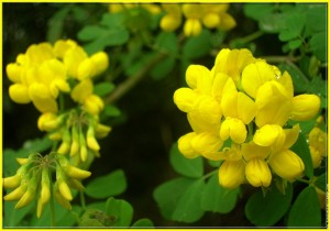
[[304, 175], [301, 158], [289, 150], [299, 124], [288, 128], [287, 122], [312, 119], [318, 96], [294, 96], [287, 72], [245, 48], [221, 50], [211, 70], [190, 65], [186, 81], [188, 87], [174, 94], [193, 128], [178, 140], [184, 156], [222, 160], [219, 183], [227, 188], [243, 183], [268, 187], [274, 175], [289, 182]]

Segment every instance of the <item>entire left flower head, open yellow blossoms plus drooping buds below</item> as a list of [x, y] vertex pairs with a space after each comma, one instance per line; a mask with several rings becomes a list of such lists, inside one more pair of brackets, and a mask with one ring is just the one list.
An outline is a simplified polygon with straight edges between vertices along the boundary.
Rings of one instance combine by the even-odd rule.
[[[99, 156], [96, 138], [105, 138], [111, 128], [99, 123], [105, 108], [102, 99], [94, 94], [92, 78], [109, 66], [105, 52], [91, 56], [72, 40], [31, 45], [16, 62], [7, 66], [13, 85], [10, 98], [18, 103], [33, 102], [42, 112], [37, 120], [41, 131], [50, 132], [53, 141], [62, 141], [57, 152], [70, 154], [70, 161], [80, 163]], [[78, 107], [58, 110], [59, 91], [70, 96]]]

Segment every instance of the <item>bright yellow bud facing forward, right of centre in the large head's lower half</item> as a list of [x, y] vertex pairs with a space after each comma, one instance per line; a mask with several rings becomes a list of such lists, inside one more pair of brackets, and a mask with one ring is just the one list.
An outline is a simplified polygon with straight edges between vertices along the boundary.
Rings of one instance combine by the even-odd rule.
[[274, 144], [283, 146], [285, 142], [285, 132], [279, 125], [267, 124], [256, 130], [253, 142], [260, 146], [271, 146]]

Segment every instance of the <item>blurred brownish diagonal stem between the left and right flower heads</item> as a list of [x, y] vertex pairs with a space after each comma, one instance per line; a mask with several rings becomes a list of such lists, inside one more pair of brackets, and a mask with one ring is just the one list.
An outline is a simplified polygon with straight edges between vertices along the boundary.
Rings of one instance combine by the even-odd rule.
[[146, 76], [147, 72], [151, 70], [156, 64], [162, 62], [167, 55], [164, 53], [160, 53], [154, 59], [152, 59], [148, 64], [144, 66], [140, 72], [135, 75], [129, 77], [125, 81], [121, 82], [116, 90], [105, 99], [106, 103], [111, 103], [120, 99], [124, 96], [130, 89], [132, 89], [144, 76]]

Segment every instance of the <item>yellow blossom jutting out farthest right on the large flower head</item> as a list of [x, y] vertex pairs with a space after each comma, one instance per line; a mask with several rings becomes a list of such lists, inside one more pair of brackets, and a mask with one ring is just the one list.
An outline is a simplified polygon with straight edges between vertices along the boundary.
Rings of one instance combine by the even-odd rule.
[[320, 110], [321, 100], [316, 95], [299, 95], [293, 99], [293, 111], [290, 118], [296, 121], [310, 120]]

